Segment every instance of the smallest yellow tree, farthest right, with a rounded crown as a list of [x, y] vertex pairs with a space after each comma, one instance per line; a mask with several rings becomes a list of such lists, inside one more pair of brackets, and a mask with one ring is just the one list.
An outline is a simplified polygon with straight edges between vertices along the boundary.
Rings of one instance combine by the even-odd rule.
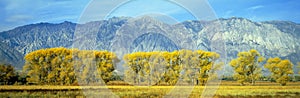
[[269, 58], [264, 65], [271, 73], [271, 77], [280, 85], [285, 86], [293, 72], [293, 64], [289, 60], [281, 60], [279, 57]]

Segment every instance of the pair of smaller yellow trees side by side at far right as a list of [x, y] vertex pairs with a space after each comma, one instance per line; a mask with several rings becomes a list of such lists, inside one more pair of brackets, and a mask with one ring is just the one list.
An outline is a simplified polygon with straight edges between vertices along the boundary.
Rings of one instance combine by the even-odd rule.
[[[241, 85], [244, 85], [245, 82], [254, 85], [255, 81], [261, 76], [260, 65], [265, 58], [256, 50], [240, 52], [237, 56], [236, 59], [230, 62], [235, 71], [234, 78]], [[293, 64], [287, 59], [281, 60], [278, 57], [269, 58], [264, 67], [271, 72], [271, 77], [283, 86], [286, 85], [290, 77], [294, 74]]]

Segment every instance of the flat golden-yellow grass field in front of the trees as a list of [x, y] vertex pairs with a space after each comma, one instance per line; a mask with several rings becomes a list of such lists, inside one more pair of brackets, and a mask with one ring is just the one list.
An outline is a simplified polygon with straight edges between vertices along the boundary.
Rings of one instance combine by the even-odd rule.
[[[0, 86], [0, 97], [169, 97], [199, 98], [204, 89], [215, 89], [215, 98], [300, 98], [300, 83], [278, 86], [276, 83], [258, 82], [256, 86], [238, 86], [236, 82], [222, 82], [220, 86]], [[112, 92], [112, 93], [111, 93]], [[210, 95], [210, 94], [209, 94]]]

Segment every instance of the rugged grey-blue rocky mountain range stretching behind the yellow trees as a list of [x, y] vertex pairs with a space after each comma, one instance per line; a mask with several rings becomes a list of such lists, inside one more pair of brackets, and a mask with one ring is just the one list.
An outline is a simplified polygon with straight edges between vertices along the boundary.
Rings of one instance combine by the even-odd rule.
[[[216, 48], [227, 60], [240, 51], [257, 49], [266, 58], [300, 61], [300, 25], [285, 21], [253, 22], [244, 18], [185, 21], [169, 25], [151, 17], [118, 18], [75, 24], [38, 23], [0, 33], [7, 49], [25, 55], [50, 47], [124, 51], [173, 51]], [[225, 45], [225, 46], [224, 46]], [[122, 49], [121, 49], [122, 48]], [[220, 52], [220, 51], [218, 51]], [[225, 52], [225, 53], [224, 53]], [[10, 54], [4, 51], [6, 54]], [[126, 52], [125, 52], [126, 53]], [[1, 57], [7, 58], [7, 57]]]

